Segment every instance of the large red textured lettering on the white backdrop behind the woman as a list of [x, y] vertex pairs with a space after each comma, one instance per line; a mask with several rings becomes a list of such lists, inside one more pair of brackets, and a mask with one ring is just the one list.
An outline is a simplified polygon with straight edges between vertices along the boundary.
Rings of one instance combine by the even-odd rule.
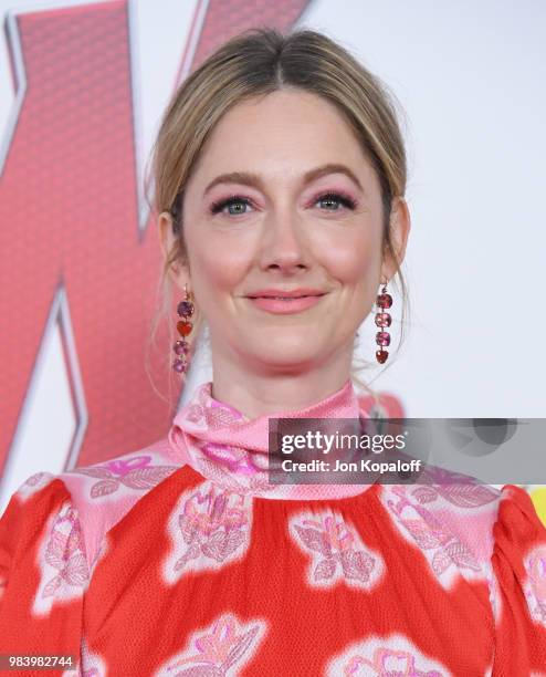
[[[305, 6], [210, 1], [191, 70], [246, 28], [288, 30]], [[23, 13], [17, 28], [27, 90], [0, 184], [0, 472], [60, 287], [88, 415], [76, 465], [158, 439], [170, 417], [144, 364], [160, 251], [155, 225], [138, 227], [127, 2]]]

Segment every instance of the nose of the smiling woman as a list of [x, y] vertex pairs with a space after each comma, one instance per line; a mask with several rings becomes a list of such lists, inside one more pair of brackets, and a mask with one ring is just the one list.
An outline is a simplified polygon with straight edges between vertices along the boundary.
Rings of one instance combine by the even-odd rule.
[[304, 225], [286, 208], [272, 211], [263, 221], [261, 265], [290, 272], [309, 265], [309, 249]]

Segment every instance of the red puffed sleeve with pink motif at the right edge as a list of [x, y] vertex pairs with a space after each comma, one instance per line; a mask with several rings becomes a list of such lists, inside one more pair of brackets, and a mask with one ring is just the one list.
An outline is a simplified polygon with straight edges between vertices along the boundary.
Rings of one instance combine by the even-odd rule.
[[492, 675], [546, 674], [546, 528], [525, 489], [503, 487], [493, 539]]

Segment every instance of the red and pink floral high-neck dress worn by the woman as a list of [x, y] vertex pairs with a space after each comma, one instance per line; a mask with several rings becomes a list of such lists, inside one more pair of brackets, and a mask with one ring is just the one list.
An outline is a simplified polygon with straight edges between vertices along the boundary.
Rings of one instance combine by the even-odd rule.
[[[347, 381], [286, 416], [367, 414]], [[72, 655], [65, 677], [546, 676], [525, 490], [269, 483], [270, 417], [209, 382], [164, 439], [30, 477], [0, 519], [0, 654]]]

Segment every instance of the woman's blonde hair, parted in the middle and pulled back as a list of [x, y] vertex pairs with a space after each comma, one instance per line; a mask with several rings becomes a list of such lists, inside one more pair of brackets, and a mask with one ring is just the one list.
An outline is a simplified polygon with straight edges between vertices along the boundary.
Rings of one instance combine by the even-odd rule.
[[[176, 262], [188, 263], [183, 194], [203, 144], [232, 106], [283, 87], [298, 87], [333, 103], [360, 140], [365, 157], [377, 173], [384, 208], [384, 254], [390, 253], [397, 262], [395, 278], [398, 275], [399, 285], [396, 279], [395, 285], [402, 298], [400, 348], [409, 298], [391, 240], [390, 212], [392, 199], [403, 197], [406, 191], [407, 158], [397, 121], [396, 97], [376, 75], [325, 34], [309, 29], [282, 34], [272, 28], [250, 29], [225, 42], [181, 83], [162, 115], [153, 147], [146, 194], [153, 185], [150, 208], [156, 215], [170, 212], [177, 237], [162, 263], [158, 283], [162, 304], [154, 317], [150, 342], [162, 316], [170, 317], [170, 343], [175, 341], [168, 272]], [[195, 335], [198, 335], [202, 317], [196, 310]], [[168, 360], [170, 363], [171, 345]], [[357, 369], [353, 365], [350, 377], [377, 403], [377, 395], [356, 374], [368, 366], [371, 363], [367, 361], [361, 361]]]

